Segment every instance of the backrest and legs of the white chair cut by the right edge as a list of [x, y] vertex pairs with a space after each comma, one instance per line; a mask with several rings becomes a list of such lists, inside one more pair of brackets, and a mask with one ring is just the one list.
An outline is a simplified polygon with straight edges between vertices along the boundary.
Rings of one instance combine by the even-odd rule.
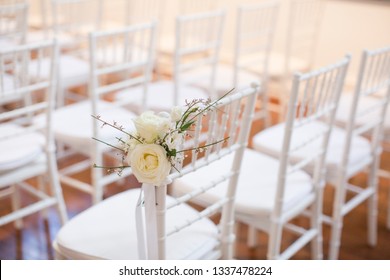
[[[347, 138], [341, 166], [347, 170], [339, 174], [333, 209], [332, 241], [330, 258], [337, 258], [341, 240], [343, 216], [368, 200], [368, 243], [376, 245], [377, 235], [377, 185], [378, 176], [383, 174], [380, 157], [385, 148], [385, 136], [388, 135], [390, 94], [390, 47], [365, 50], [360, 61], [360, 70], [356, 79], [354, 93], [344, 93], [336, 115], [336, 124], [346, 129]], [[356, 147], [357, 136], [369, 139], [369, 146]], [[384, 147], [382, 147], [382, 144]], [[336, 153], [336, 152], [335, 152]], [[356, 154], [361, 154], [358, 160]], [[363, 157], [365, 156], [365, 157]], [[348, 181], [359, 171], [367, 168], [367, 188], [357, 188]], [[353, 170], [351, 172], [350, 170]], [[348, 199], [347, 193], [353, 193]], [[389, 210], [390, 211], [390, 210]]]

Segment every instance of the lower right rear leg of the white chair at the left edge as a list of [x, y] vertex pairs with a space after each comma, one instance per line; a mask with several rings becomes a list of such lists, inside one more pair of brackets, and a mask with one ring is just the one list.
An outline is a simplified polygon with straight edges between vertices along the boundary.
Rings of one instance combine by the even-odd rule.
[[60, 215], [61, 224], [65, 224], [68, 221], [68, 215], [66, 213], [66, 206], [64, 197], [62, 195], [62, 189], [60, 185], [60, 179], [58, 176], [57, 163], [54, 156], [54, 153], [48, 152], [48, 169], [49, 169], [49, 179], [50, 187], [52, 192], [57, 200], [57, 209]]

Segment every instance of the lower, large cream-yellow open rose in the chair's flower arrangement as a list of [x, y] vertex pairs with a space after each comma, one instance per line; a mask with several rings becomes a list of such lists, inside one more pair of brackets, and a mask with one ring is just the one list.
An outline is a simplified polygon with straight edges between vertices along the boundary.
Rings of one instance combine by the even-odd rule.
[[139, 144], [128, 155], [127, 161], [140, 183], [160, 186], [171, 171], [171, 163], [163, 147], [156, 144]]

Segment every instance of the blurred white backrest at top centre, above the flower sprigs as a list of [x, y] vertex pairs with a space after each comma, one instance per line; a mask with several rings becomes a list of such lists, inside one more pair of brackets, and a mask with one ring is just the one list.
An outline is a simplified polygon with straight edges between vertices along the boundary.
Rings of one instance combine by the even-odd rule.
[[[175, 101], [179, 100], [178, 86], [195, 82], [201, 77], [210, 80], [210, 96], [216, 99], [215, 76], [222, 45], [225, 12], [222, 10], [178, 16], [174, 53]], [[199, 75], [199, 73], [198, 73]]]

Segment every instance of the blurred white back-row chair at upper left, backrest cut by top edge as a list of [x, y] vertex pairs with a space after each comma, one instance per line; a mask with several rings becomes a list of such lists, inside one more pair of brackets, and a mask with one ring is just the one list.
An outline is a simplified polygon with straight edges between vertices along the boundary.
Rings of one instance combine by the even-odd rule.
[[[100, 0], [51, 0], [52, 32], [60, 45], [58, 68], [57, 107], [66, 105], [66, 99], [85, 99], [72, 91], [88, 86], [88, 34], [100, 29]], [[46, 69], [47, 69], [46, 65]], [[42, 72], [49, 75], [49, 72]]]

